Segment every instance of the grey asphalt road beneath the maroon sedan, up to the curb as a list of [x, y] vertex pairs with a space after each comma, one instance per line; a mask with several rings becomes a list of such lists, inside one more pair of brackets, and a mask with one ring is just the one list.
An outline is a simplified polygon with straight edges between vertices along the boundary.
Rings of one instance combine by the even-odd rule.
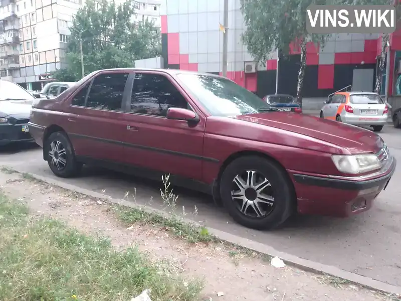
[[[215, 207], [211, 197], [174, 188], [179, 195], [178, 208], [185, 207], [207, 226], [258, 241], [305, 259], [334, 265], [393, 285], [401, 286], [401, 130], [386, 125], [380, 135], [398, 161], [387, 189], [373, 208], [348, 219], [319, 216], [295, 216], [275, 231], [250, 230], [236, 224], [223, 209]], [[15, 145], [0, 150], [0, 166], [56, 178], [42, 160], [42, 150], [34, 144]], [[136, 191], [136, 202], [160, 208], [161, 183], [134, 178], [106, 170], [89, 168], [76, 179], [59, 179], [113, 198]], [[132, 196], [131, 201], [134, 201]]]

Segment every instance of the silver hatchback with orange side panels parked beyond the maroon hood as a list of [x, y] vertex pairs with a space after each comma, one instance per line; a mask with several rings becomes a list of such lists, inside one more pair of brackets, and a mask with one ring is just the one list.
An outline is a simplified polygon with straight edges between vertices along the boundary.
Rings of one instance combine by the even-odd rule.
[[387, 122], [388, 107], [377, 93], [336, 92], [324, 101], [320, 117], [380, 131]]

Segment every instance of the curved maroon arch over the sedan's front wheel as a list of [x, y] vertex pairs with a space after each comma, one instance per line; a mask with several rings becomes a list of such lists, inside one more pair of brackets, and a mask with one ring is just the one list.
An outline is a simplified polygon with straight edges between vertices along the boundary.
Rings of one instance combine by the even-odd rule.
[[220, 166], [220, 170], [219, 170], [219, 174], [217, 176], [217, 179], [214, 181], [214, 185], [213, 185], [213, 189], [212, 189], [212, 193], [213, 193], [213, 197], [216, 200], [218, 200], [217, 202], [220, 203], [220, 180], [221, 177], [223, 175], [224, 170], [227, 168], [227, 166], [229, 166], [232, 162], [234, 162], [236, 159], [240, 158], [240, 157], [245, 157], [245, 156], [256, 156], [256, 157], [260, 157], [261, 159], [265, 159], [265, 160], [269, 160], [271, 162], [274, 162], [279, 168], [282, 169], [282, 171], [284, 172], [284, 174], [287, 177], [287, 180], [289, 181], [291, 187], [292, 187], [292, 192], [295, 196], [295, 201], [296, 201], [296, 192], [295, 192], [295, 187], [294, 187], [294, 183], [290, 178], [290, 175], [287, 173], [286, 169], [284, 168], [284, 166], [273, 156], [266, 154], [266, 153], [262, 153], [262, 152], [258, 152], [257, 150], [242, 150], [240, 152], [231, 154], [224, 162], [223, 164]]

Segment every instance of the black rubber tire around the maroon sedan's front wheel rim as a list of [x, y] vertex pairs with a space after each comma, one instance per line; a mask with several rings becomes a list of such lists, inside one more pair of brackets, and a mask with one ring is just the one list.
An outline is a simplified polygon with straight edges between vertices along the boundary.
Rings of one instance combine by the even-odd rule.
[[[256, 171], [271, 184], [274, 203], [271, 212], [263, 217], [250, 217], [242, 213], [233, 200], [231, 190], [234, 178], [246, 171]], [[220, 182], [220, 194], [229, 214], [239, 224], [252, 229], [274, 229], [284, 223], [295, 211], [296, 196], [291, 180], [278, 164], [258, 157], [246, 156], [233, 161], [226, 167]]]

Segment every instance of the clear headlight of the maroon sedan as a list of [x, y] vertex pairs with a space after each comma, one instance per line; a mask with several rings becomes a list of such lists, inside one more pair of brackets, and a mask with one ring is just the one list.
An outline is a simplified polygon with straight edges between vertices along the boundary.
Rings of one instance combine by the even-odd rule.
[[381, 168], [381, 163], [374, 154], [365, 155], [332, 155], [338, 171], [344, 174], [362, 174]]

